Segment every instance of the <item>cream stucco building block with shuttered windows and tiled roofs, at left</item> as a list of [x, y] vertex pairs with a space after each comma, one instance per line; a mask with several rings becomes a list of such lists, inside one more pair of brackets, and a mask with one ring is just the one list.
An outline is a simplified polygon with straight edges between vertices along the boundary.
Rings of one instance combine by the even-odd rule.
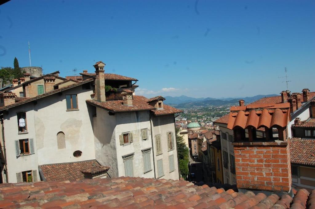
[[0, 93], [2, 182], [179, 179], [174, 114], [181, 111], [162, 96], [136, 96], [138, 80], [106, 74], [102, 62], [94, 67], [82, 80], [25, 74]]

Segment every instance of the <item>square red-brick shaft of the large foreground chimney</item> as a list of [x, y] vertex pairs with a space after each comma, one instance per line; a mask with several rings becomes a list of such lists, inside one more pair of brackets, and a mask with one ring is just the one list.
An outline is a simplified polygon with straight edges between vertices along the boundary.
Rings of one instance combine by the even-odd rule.
[[240, 142], [233, 145], [238, 188], [291, 190], [289, 140]]

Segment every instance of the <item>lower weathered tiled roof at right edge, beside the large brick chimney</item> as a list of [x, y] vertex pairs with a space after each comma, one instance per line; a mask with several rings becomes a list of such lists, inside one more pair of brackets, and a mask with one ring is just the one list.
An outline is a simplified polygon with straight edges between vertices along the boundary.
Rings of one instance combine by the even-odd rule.
[[290, 140], [291, 163], [315, 166], [315, 140], [292, 138]]

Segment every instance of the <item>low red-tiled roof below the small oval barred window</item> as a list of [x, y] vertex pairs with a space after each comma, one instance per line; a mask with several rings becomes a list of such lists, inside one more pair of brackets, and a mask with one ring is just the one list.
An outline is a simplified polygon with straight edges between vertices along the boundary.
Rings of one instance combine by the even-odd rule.
[[84, 179], [84, 174], [81, 170], [91, 168], [93, 165], [100, 166], [96, 160], [90, 160], [42, 165], [39, 167], [42, 169], [46, 181], [76, 181]]

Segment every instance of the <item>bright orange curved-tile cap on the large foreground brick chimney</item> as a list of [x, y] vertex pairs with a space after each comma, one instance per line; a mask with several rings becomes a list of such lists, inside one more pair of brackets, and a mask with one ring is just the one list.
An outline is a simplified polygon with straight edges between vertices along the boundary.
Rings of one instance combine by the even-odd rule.
[[289, 103], [231, 107], [227, 128], [231, 130], [236, 127], [259, 129], [261, 127], [271, 128], [275, 125], [286, 127], [290, 118], [289, 107]]

